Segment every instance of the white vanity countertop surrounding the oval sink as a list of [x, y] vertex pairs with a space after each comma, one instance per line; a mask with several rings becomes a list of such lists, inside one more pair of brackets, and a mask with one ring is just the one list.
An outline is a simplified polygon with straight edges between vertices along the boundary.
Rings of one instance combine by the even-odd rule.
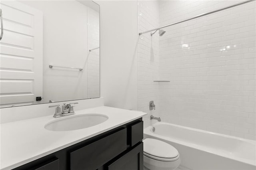
[[50, 116], [1, 124], [0, 168], [16, 168], [146, 115], [139, 111], [106, 106], [75, 112], [76, 115], [102, 114], [108, 116], [108, 120], [93, 127], [70, 131], [50, 131], [44, 126], [51, 121], [74, 115], [53, 118], [53, 113]]

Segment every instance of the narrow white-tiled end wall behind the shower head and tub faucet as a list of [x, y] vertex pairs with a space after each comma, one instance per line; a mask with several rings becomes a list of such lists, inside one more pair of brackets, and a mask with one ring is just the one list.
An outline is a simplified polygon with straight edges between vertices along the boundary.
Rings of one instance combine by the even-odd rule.
[[[159, 26], [158, 1], [138, 2], [138, 32]], [[158, 32], [152, 37], [149, 34], [140, 36], [138, 42], [138, 110], [148, 113], [143, 118], [144, 127], [148, 127], [152, 121], [150, 115], [158, 116], [160, 107], [158, 100], [158, 79], [159, 64], [159, 36]], [[149, 111], [149, 102], [154, 101], [157, 110]]]

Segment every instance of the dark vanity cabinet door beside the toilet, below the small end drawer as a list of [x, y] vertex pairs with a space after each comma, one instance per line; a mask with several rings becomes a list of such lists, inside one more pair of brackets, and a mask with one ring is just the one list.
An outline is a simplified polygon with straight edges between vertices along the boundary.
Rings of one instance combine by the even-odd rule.
[[107, 170], [143, 170], [143, 142], [110, 164]]

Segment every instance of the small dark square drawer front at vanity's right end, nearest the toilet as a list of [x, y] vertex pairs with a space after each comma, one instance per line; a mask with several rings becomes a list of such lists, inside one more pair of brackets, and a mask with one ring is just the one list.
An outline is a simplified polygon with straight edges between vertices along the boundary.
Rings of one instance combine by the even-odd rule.
[[136, 143], [142, 141], [143, 139], [143, 121], [131, 125], [130, 129], [130, 144], [134, 146]]

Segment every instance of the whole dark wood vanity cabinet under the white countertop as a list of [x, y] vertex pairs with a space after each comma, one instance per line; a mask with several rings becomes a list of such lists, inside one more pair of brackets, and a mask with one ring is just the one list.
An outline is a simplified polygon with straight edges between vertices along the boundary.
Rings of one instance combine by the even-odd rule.
[[143, 170], [142, 138], [140, 118], [14, 170]]

